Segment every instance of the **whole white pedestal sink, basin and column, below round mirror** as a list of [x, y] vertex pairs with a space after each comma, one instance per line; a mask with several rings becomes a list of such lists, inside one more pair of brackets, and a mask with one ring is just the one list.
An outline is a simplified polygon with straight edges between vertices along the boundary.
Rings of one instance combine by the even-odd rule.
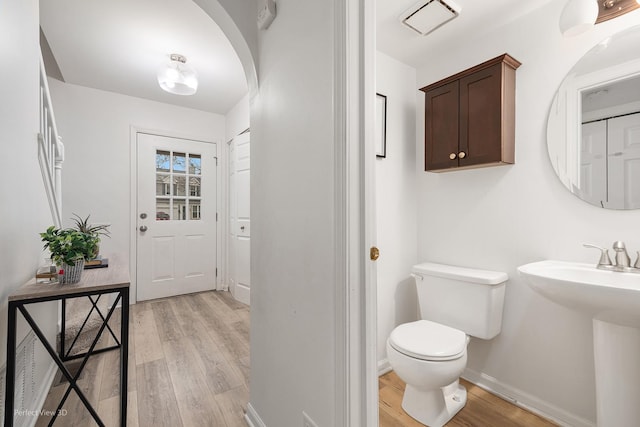
[[640, 274], [551, 260], [518, 272], [540, 295], [593, 319], [598, 427], [640, 425]]

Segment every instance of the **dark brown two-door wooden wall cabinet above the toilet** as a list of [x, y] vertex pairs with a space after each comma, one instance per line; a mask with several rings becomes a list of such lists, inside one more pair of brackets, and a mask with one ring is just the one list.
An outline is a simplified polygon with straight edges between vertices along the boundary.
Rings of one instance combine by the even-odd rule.
[[504, 54], [420, 89], [426, 171], [514, 163], [519, 66]]

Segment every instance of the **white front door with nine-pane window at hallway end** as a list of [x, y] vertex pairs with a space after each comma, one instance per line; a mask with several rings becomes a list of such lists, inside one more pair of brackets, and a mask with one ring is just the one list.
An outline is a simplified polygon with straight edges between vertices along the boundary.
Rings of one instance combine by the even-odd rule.
[[216, 145], [136, 143], [137, 300], [216, 289]]

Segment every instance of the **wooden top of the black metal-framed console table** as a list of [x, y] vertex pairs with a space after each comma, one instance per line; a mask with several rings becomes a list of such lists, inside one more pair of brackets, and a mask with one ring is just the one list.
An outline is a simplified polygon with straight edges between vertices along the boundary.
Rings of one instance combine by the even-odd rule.
[[29, 301], [40, 298], [72, 297], [86, 292], [105, 292], [110, 289], [128, 288], [129, 263], [122, 255], [111, 255], [109, 267], [84, 270], [80, 282], [61, 285], [59, 283], [36, 283], [35, 278], [9, 295], [9, 301]]

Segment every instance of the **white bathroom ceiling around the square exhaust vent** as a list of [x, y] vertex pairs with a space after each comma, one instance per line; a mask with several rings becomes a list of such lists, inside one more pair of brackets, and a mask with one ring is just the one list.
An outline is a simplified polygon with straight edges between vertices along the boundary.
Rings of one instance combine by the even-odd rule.
[[[377, 49], [414, 68], [421, 68], [433, 60], [429, 53], [455, 49], [554, 0], [453, 1], [462, 8], [460, 16], [421, 36], [398, 19], [417, 0], [377, 0]], [[559, 8], [563, 5], [563, 2], [558, 2]]]

